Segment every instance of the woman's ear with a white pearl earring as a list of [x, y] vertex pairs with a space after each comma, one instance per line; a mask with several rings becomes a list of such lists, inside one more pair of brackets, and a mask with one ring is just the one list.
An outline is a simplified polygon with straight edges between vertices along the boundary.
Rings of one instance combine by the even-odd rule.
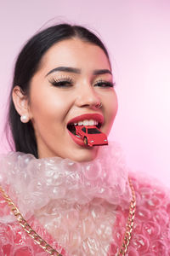
[[31, 119], [29, 113], [28, 96], [24, 95], [20, 86], [16, 85], [13, 89], [12, 97], [14, 102], [14, 108], [20, 114], [20, 117], [24, 117], [23, 120], [21, 118], [21, 121], [25, 123], [28, 122], [29, 119]]

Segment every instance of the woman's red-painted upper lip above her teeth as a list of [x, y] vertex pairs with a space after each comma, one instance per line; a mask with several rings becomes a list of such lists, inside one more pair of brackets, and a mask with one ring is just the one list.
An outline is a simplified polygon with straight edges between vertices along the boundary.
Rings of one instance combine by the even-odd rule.
[[67, 125], [71, 124], [71, 123], [77, 123], [79, 121], [83, 121], [85, 119], [94, 119], [96, 121], [99, 122], [99, 124], [103, 124], [104, 123], [104, 117], [101, 113], [83, 113], [73, 119], [71, 119]]

